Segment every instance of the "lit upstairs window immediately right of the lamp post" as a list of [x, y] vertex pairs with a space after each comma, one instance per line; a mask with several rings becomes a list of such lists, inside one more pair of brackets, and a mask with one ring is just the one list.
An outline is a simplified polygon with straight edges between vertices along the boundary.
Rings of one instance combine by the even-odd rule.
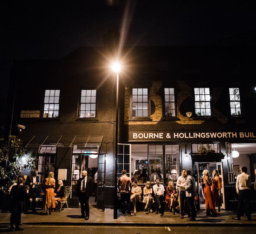
[[147, 88], [132, 89], [132, 117], [149, 116], [149, 96]]

